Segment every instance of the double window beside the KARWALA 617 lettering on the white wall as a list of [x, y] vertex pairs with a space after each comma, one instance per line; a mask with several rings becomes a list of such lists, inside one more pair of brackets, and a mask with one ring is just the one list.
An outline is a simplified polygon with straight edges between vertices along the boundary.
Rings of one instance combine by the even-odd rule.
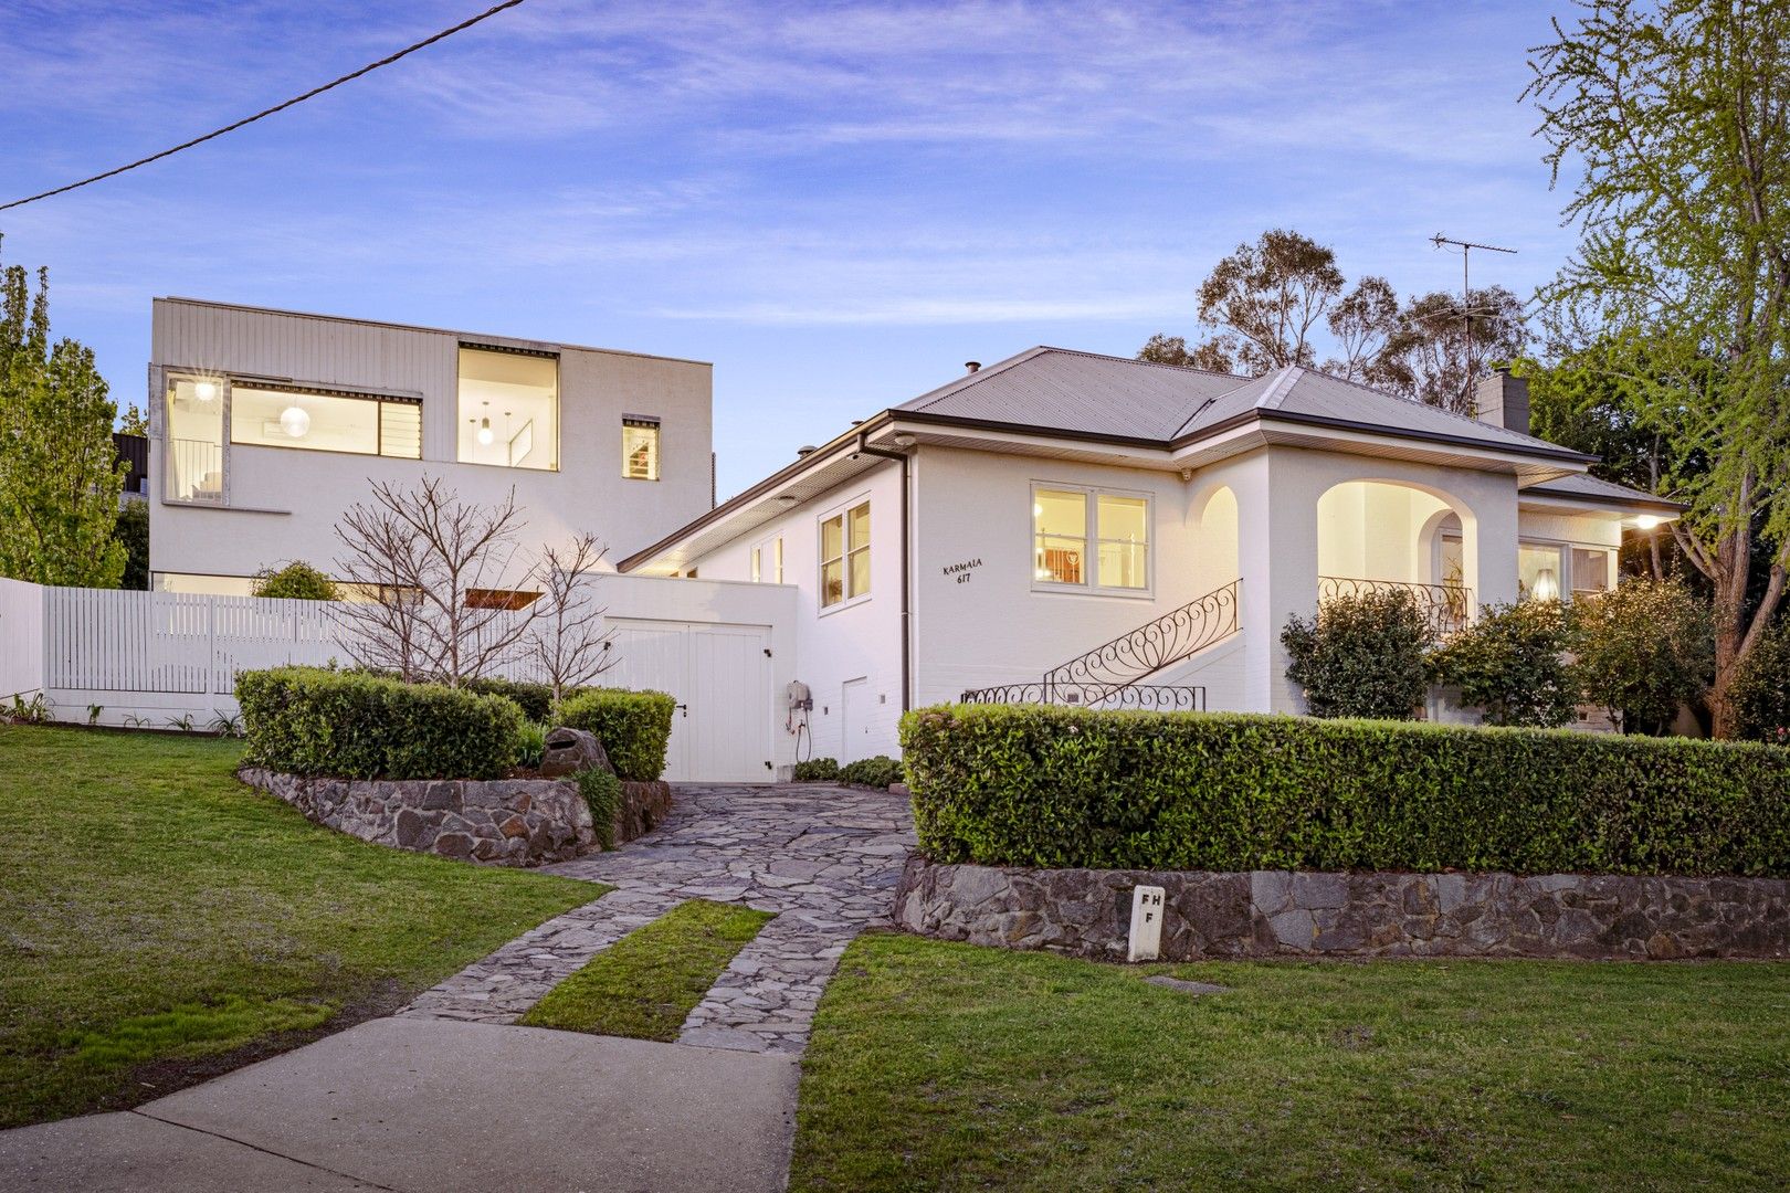
[[1038, 485], [1031, 492], [1038, 587], [1149, 588], [1149, 499]]

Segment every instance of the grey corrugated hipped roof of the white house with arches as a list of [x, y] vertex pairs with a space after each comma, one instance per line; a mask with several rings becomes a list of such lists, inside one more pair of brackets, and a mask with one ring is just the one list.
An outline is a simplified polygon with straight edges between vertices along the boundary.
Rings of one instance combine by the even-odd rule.
[[1312, 368], [1278, 368], [1249, 379], [1053, 347], [1027, 349], [902, 402], [895, 411], [1164, 444], [1198, 438], [1249, 411], [1273, 411], [1387, 435], [1550, 456], [1577, 454], [1532, 435]]

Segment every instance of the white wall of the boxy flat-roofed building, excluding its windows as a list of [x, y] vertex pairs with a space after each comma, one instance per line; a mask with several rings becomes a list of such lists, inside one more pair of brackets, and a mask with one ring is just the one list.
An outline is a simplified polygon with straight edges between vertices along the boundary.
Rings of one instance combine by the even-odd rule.
[[[150, 571], [249, 576], [268, 563], [308, 560], [333, 571], [333, 528], [365, 501], [369, 481], [444, 478], [483, 504], [516, 490], [528, 546], [591, 531], [619, 560], [686, 524], [711, 504], [711, 367], [628, 352], [560, 354], [557, 472], [456, 461], [458, 343], [492, 340], [449, 331], [358, 324], [306, 315], [158, 300], [150, 410], [161, 431], [163, 376], [183, 370], [286, 377], [322, 388], [422, 395], [422, 460], [388, 460], [286, 447], [229, 445], [229, 508], [161, 501], [165, 445], [150, 435]], [[661, 478], [621, 476], [621, 417], [661, 419]]]

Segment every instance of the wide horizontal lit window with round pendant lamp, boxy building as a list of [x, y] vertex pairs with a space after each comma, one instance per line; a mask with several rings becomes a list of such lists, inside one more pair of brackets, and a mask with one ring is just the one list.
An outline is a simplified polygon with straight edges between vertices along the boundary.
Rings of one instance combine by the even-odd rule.
[[254, 447], [422, 458], [422, 402], [231, 385], [229, 438]]

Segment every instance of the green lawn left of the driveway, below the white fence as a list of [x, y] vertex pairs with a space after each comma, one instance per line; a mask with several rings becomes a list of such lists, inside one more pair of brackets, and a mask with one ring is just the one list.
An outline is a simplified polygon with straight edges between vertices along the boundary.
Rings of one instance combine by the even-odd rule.
[[0, 726], [0, 1127], [396, 1009], [605, 887], [310, 825], [240, 742]]

